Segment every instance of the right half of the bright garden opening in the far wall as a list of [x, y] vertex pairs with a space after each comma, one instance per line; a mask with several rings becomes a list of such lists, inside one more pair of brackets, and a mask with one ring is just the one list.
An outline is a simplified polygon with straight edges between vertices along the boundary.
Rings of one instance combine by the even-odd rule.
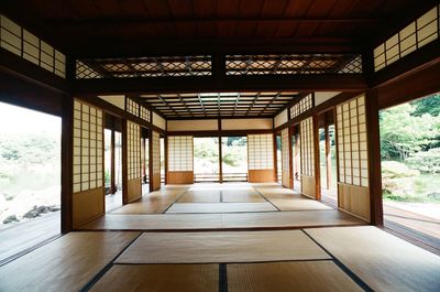
[[221, 138], [223, 182], [248, 182], [248, 137]]

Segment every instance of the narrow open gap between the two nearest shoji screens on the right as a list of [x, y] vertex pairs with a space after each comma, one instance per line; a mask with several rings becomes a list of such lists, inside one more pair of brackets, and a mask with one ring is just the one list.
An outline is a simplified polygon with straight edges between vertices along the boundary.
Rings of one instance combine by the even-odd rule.
[[319, 164], [321, 199], [338, 206], [338, 172], [333, 110], [319, 115]]

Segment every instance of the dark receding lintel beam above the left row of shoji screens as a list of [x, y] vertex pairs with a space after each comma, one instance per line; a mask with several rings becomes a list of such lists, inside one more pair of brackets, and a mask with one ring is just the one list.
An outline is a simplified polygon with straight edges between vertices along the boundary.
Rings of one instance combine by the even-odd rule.
[[78, 97], [78, 99], [81, 99], [81, 100], [84, 100], [86, 102], [89, 102], [90, 105], [99, 107], [99, 108], [103, 109], [106, 112], [108, 112], [110, 115], [117, 116], [117, 117], [122, 118], [122, 119], [131, 120], [133, 122], [136, 122], [136, 123], [141, 125], [142, 127], [145, 127], [145, 128], [148, 128], [148, 129], [153, 129], [153, 130], [160, 132], [161, 134], [165, 134], [164, 130], [162, 130], [157, 126], [153, 125], [153, 115], [151, 116], [152, 117], [152, 122], [148, 122], [148, 121], [145, 121], [145, 120], [143, 120], [143, 119], [130, 113], [130, 112], [127, 112], [123, 109], [120, 109], [117, 106], [113, 106], [113, 105], [107, 102], [106, 100], [103, 100], [103, 99], [101, 99], [99, 97]]

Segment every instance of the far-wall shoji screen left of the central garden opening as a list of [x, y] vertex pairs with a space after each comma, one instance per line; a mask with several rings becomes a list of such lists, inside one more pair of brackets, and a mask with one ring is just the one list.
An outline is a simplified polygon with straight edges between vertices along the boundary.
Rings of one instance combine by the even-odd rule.
[[168, 183], [194, 183], [193, 136], [168, 137]]

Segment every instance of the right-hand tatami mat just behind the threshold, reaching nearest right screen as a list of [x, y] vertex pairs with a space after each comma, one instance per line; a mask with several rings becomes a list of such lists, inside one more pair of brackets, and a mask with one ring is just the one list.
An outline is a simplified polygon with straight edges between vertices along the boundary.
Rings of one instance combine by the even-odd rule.
[[223, 214], [223, 228], [274, 228], [360, 225], [365, 221], [340, 210]]

